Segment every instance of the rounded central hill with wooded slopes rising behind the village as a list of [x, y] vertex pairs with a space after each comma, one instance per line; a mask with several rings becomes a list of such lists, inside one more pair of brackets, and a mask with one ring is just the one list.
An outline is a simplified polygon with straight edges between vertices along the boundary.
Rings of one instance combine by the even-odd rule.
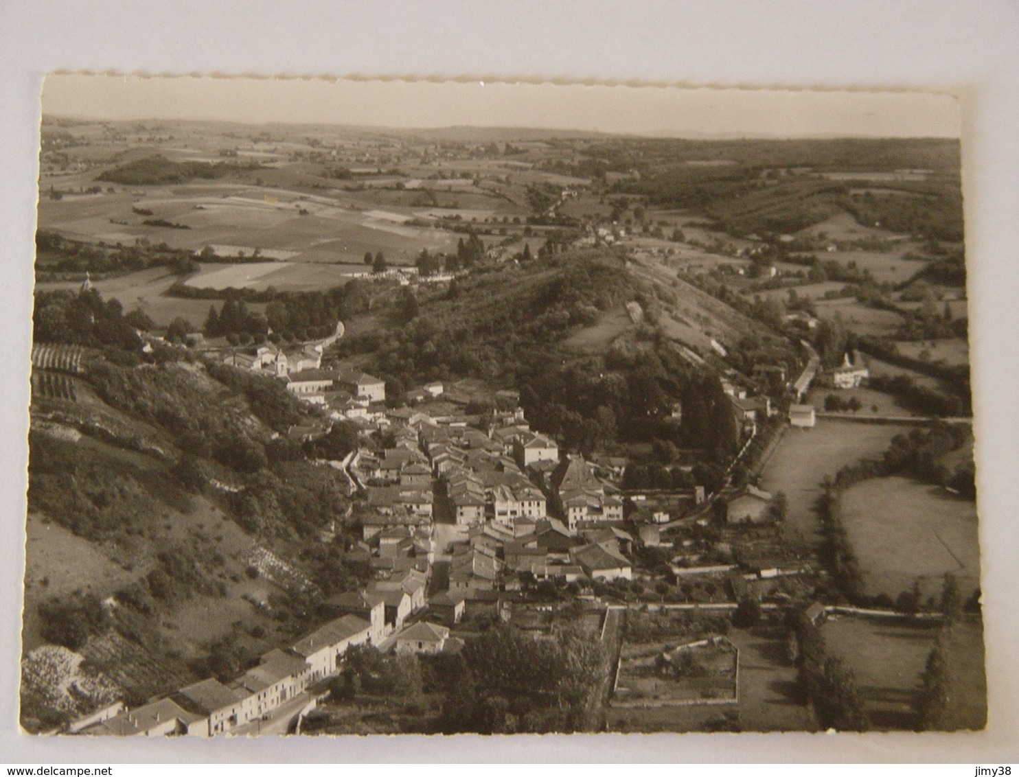
[[[676, 341], [707, 350], [705, 332], [765, 334], [760, 324], [672, 274], [607, 248], [555, 254], [459, 279], [447, 291], [396, 292], [388, 324], [340, 343], [387, 382], [475, 378], [521, 391], [531, 424], [572, 449], [652, 442], [705, 448], [725, 460], [732, 412], [715, 372]], [[625, 313], [636, 302], [637, 322]], [[696, 326], [684, 323], [686, 312]], [[378, 313], [376, 313], [378, 315]], [[667, 420], [682, 402], [683, 422]], [[720, 433], [718, 430], [722, 430]]]

